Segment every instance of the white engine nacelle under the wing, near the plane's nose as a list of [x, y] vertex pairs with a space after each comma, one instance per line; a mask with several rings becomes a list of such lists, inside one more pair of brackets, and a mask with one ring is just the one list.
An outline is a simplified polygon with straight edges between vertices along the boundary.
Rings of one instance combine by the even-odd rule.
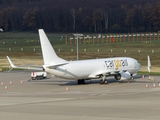
[[131, 78], [131, 74], [129, 72], [122, 72], [119, 73], [118, 75], [115, 75], [116, 80], [129, 80]]

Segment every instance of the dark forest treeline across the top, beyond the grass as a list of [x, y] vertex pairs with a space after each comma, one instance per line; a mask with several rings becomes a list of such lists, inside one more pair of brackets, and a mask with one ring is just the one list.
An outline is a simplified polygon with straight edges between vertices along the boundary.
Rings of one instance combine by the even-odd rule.
[[144, 32], [160, 30], [158, 0], [0, 0], [4, 31]]

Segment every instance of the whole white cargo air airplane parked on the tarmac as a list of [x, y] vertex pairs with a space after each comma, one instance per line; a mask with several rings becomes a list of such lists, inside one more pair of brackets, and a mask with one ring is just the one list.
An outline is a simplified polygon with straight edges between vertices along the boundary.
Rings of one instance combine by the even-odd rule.
[[[116, 80], [129, 80], [141, 69], [138, 60], [130, 57], [113, 57], [67, 61], [57, 56], [43, 29], [39, 29], [44, 65], [40, 68], [59, 78], [77, 80], [78, 84], [85, 84], [85, 80], [101, 79], [100, 84], [107, 84], [107, 77]], [[14, 64], [7, 56], [10, 65]], [[148, 68], [149, 69], [149, 68]]]

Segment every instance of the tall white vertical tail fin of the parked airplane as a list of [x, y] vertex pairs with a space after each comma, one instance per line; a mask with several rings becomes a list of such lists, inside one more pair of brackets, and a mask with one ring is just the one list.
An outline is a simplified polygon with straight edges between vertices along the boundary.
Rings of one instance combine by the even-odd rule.
[[44, 65], [56, 65], [67, 62], [57, 56], [43, 29], [39, 29], [39, 38]]

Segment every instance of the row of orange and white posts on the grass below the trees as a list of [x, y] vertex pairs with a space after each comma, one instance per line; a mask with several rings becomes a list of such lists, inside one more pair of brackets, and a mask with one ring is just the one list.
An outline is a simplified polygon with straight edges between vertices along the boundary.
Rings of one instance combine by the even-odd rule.
[[[94, 44], [94, 43], [114, 43], [114, 42], [146, 42], [159, 40], [160, 33], [124, 33], [124, 34], [98, 34], [84, 35], [79, 37], [79, 44]], [[77, 44], [77, 38], [66, 36], [66, 45]]]

